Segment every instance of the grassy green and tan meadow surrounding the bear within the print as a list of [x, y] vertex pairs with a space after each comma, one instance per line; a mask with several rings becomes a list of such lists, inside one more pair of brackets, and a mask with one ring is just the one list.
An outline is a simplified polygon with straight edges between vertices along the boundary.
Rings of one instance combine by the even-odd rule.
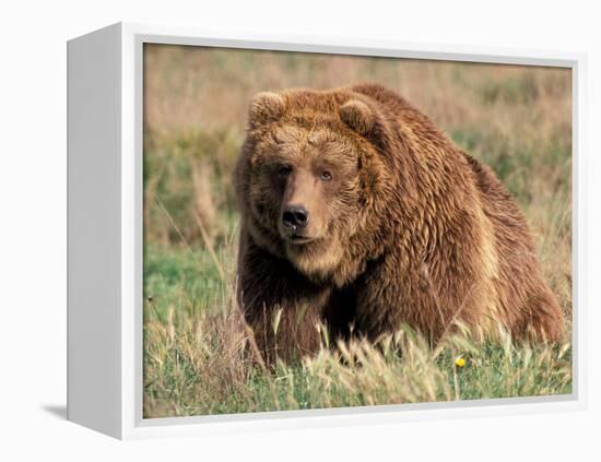
[[[164, 45], [144, 56], [145, 417], [571, 391], [569, 70]], [[563, 342], [456, 334], [431, 348], [400, 329], [379, 350], [341, 345], [344, 360], [328, 339], [315, 358], [275, 371], [249, 357], [234, 297], [232, 186], [248, 100], [360, 81], [397, 90], [496, 171], [534, 233]]]

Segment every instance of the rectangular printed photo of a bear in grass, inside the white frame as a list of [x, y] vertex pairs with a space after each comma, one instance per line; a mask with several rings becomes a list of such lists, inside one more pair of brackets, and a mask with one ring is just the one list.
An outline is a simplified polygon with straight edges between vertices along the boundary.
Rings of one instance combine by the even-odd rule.
[[571, 393], [571, 70], [145, 44], [143, 416]]

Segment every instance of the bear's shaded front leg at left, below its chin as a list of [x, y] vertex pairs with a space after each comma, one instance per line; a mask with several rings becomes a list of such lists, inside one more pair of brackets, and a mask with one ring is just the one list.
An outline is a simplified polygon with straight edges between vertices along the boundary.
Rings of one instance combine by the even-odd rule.
[[241, 239], [238, 269], [238, 303], [266, 363], [317, 352], [330, 289], [315, 285], [250, 238]]

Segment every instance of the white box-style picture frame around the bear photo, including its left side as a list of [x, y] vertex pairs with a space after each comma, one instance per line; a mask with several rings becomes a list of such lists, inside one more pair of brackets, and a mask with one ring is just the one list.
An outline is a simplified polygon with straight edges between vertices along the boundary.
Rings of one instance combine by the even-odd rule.
[[[142, 418], [144, 43], [553, 66], [573, 72], [569, 395]], [[586, 407], [586, 56], [366, 38], [115, 24], [68, 43], [68, 418], [120, 439], [576, 411]]]

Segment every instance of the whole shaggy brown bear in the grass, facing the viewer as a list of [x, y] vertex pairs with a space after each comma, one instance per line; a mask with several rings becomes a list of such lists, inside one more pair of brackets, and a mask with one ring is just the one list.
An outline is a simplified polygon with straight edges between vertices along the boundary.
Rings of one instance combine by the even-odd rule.
[[238, 301], [269, 363], [402, 324], [562, 335], [514, 199], [392, 91], [258, 94], [235, 177]]

